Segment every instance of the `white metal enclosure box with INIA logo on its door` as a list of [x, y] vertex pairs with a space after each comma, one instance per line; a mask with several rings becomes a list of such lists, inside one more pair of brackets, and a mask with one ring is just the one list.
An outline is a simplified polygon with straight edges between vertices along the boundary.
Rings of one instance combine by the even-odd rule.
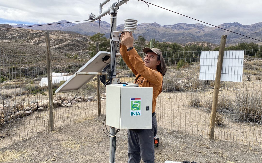
[[151, 129], [153, 88], [106, 86], [106, 125], [119, 129]]

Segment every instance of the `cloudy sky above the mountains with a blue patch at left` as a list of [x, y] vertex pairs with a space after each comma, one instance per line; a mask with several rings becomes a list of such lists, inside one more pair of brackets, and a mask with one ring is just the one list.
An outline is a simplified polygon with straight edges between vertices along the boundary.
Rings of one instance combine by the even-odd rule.
[[[98, 15], [99, 4], [104, 0], [0, 0], [0, 24], [42, 24], [60, 20], [88, 20], [89, 13]], [[103, 11], [120, 0], [111, 0], [104, 5]], [[262, 21], [262, 1], [246, 0], [145, 0], [163, 8], [193, 17], [195, 19], [220, 25], [238, 22], [251, 25]], [[142, 1], [130, 0], [120, 6], [117, 25], [126, 18], [135, 18], [138, 23], [158, 23], [173, 25], [176, 23], [201, 23], [188, 17], [148, 5]], [[110, 15], [101, 18], [110, 22]], [[204, 24], [204, 23], [201, 23]], [[204, 24], [206, 25], [206, 24]], [[208, 25], [210, 26], [210, 25]]]

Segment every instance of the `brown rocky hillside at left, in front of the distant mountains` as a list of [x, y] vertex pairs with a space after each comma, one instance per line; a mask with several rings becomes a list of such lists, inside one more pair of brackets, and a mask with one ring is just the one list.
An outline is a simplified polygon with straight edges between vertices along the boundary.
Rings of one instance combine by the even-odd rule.
[[[11, 28], [0, 25], [1, 28]], [[69, 64], [74, 59], [90, 59], [89, 37], [76, 32], [49, 31], [52, 59], [54, 62]], [[32, 29], [2, 29], [0, 35], [0, 53], [4, 64], [37, 64], [46, 62], [45, 31]], [[15, 57], [17, 56], [17, 57]], [[63, 61], [63, 62], [61, 62]], [[76, 62], [74, 60], [74, 62]]]

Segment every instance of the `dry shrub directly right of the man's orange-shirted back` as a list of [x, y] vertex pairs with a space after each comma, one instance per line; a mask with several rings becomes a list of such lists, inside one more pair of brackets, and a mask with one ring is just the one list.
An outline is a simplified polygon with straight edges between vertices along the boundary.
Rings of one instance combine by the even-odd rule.
[[183, 91], [184, 87], [170, 78], [163, 79], [163, 91]]

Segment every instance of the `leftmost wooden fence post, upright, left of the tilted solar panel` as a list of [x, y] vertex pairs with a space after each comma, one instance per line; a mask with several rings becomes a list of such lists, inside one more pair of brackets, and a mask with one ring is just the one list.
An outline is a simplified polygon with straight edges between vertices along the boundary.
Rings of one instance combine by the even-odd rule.
[[54, 103], [53, 103], [53, 84], [51, 69], [51, 49], [49, 32], [45, 32], [46, 37], [46, 63], [47, 63], [47, 83], [48, 83], [48, 100], [49, 100], [49, 131], [54, 130]]

